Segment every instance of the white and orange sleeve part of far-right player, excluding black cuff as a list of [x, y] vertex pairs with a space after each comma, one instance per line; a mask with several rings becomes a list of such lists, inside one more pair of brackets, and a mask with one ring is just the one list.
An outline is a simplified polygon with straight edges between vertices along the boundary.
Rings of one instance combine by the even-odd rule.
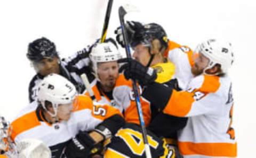
[[171, 99], [163, 112], [180, 117], [190, 117], [215, 113], [220, 109], [218, 76], [198, 76], [194, 78], [187, 91], [173, 91]]

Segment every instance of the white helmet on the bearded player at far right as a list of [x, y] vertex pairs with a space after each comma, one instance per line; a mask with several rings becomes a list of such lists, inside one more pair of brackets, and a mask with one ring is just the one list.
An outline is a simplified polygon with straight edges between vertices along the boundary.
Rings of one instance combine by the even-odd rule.
[[234, 62], [234, 53], [231, 43], [210, 39], [202, 42], [195, 49], [195, 53], [201, 53], [207, 57], [210, 62], [204, 69], [212, 68], [215, 64], [220, 64], [222, 73], [227, 73]]

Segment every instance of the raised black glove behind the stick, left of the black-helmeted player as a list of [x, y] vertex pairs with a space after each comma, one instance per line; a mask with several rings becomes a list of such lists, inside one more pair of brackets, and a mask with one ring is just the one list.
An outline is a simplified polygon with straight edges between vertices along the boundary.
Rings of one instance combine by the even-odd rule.
[[[143, 28], [143, 25], [140, 23], [140, 22], [135, 22], [135, 21], [127, 21], [125, 23], [125, 29], [127, 31], [127, 42], [131, 42], [131, 39], [133, 38], [134, 36], [134, 33]], [[122, 34], [122, 29], [121, 27], [118, 27], [116, 30], [115, 30], [115, 34], [116, 34], [116, 41], [119, 43], [119, 45], [121, 45], [123, 48], [125, 47], [124, 46], [124, 37], [123, 37], [123, 34]]]

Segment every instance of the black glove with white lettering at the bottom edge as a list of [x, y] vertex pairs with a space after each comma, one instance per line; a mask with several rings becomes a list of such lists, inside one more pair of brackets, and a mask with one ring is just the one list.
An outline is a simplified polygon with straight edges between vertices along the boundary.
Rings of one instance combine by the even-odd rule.
[[86, 131], [79, 131], [76, 137], [71, 138], [66, 146], [65, 155], [67, 158], [89, 157], [101, 151], [102, 145], [95, 144], [95, 141]]

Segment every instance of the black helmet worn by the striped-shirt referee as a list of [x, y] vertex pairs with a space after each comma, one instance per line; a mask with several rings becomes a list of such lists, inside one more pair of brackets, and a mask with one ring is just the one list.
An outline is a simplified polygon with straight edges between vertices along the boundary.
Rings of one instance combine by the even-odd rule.
[[28, 45], [27, 58], [32, 62], [39, 62], [45, 57], [58, 56], [55, 44], [49, 39], [42, 37]]

